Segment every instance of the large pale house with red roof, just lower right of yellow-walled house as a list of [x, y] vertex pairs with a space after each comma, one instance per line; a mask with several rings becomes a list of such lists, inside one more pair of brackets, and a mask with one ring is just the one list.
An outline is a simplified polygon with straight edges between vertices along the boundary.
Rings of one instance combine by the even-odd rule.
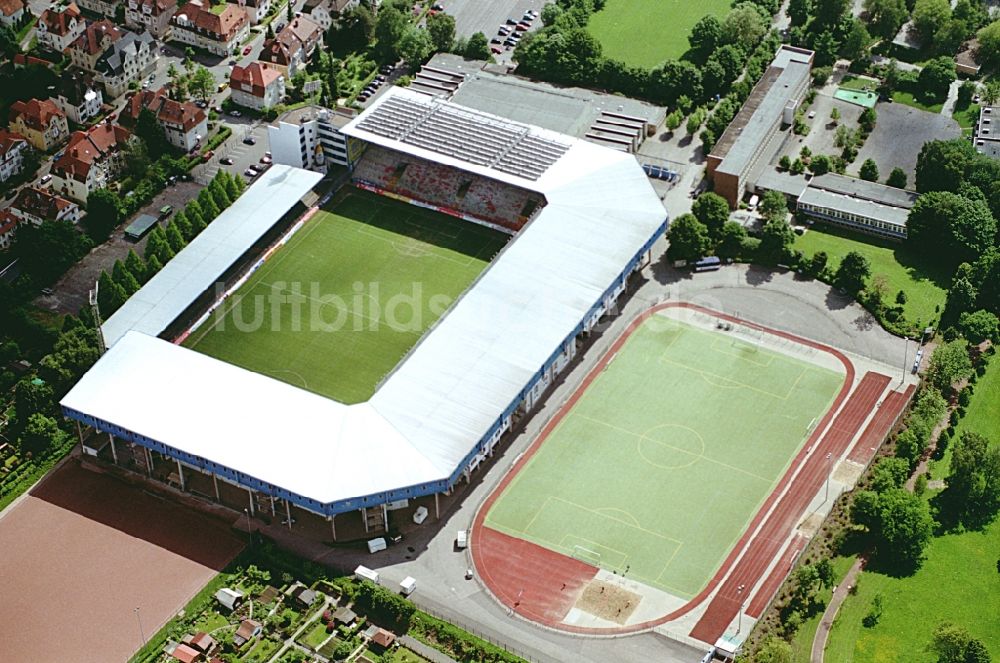
[[74, 132], [63, 155], [52, 164], [52, 190], [86, 202], [92, 191], [107, 187], [121, 172], [122, 148], [131, 137], [128, 130], [107, 122]]

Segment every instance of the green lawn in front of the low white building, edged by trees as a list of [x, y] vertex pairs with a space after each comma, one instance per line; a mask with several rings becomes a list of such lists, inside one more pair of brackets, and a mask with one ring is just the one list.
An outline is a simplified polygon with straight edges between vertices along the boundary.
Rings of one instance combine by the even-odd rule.
[[895, 301], [900, 290], [906, 293], [903, 310], [907, 320], [913, 323], [926, 325], [937, 318], [936, 307], [944, 308], [950, 280], [948, 274], [923, 265], [923, 261], [914, 256], [905, 243], [817, 224], [804, 235], [796, 237], [795, 248], [802, 251], [806, 258], [817, 251], [826, 251], [830, 256], [831, 271], [836, 270], [840, 259], [851, 251], [861, 253], [871, 263], [872, 276], [886, 278], [890, 301]]

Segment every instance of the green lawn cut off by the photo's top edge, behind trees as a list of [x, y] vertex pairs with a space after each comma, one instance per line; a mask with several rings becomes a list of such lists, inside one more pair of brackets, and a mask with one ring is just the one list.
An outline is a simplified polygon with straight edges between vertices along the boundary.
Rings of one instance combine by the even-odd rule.
[[687, 52], [688, 35], [702, 16], [719, 18], [726, 0], [688, 4], [682, 0], [608, 0], [590, 17], [587, 29], [601, 42], [604, 55], [640, 67], [655, 67]]

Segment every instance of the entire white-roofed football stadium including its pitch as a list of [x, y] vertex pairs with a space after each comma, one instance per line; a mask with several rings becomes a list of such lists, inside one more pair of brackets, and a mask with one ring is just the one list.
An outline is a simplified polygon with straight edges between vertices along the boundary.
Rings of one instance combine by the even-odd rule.
[[629, 154], [405, 89], [343, 131], [353, 186], [272, 167], [103, 323], [61, 402], [87, 453], [385, 531], [536, 408], [666, 230]]

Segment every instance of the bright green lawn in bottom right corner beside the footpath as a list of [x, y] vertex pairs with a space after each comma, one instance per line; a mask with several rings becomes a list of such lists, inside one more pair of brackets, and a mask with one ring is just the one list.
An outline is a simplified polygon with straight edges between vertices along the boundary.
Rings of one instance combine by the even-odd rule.
[[[826, 660], [931, 663], [936, 658], [924, 647], [944, 620], [968, 629], [996, 658], [1000, 655], [998, 550], [1000, 520], [984, 532], [932, 539], [927, 560], [908, 578], [863, 572], [858, 594], [841, 606], [827, 643]], [[876, 592], [882, 592], [882, 619], [874, 628], [864, 628], [861, 620]]]

